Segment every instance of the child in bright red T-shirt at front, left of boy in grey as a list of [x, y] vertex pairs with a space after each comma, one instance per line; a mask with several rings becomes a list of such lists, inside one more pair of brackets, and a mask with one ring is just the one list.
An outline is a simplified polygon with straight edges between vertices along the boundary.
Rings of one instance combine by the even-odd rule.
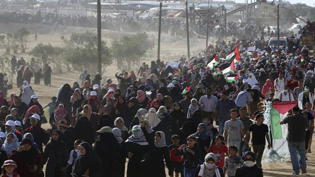
[[222, 135], [218, 135], [215, 140], [215, 144], [211, 145], [208, 152], [214, 153], [218, 161], [216, 162], [216, 165], [220, 168], [224, 167], [224, 157], [228, 156], [228, 150], [229, 148], [224, 145], [224, 137]]

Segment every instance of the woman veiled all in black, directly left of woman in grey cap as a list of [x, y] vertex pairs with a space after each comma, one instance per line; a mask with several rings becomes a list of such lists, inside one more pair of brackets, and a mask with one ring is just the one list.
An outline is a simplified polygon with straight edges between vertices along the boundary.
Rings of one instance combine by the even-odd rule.
[[79, 133], [79, 139], [82, 139], [89, 144], [94, 143], [94, 129], [92, 128], [90, 121], [86, 116], [81, 116], [74, 128]]

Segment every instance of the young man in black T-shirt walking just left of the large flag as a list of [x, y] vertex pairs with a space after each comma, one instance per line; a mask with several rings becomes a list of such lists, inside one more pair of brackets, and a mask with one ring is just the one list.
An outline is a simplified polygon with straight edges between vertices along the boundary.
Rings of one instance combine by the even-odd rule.
[[257, 114], [256, 121], [256, 124], [252, 124], [250, 126], [244, 139], [250, 136], [250, 133], [252, 132], [252, 148], [256, 156], [256, 165], [258, 167], [261, 167], [261, 159], [265, 150], [266, 138], [268, 141], [268, 149], [270, 149], [271, 144], [268, 134], [268, 126], [266, 124], [263, 124], [264, 115], [261, 113]]

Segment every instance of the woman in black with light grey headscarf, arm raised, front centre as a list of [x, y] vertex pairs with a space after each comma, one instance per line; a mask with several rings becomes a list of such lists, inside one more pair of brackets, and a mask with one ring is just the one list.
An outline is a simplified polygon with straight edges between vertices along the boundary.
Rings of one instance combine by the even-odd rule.
[[144, 136], [149, 143], [149, 152], [146, 158], [146, 176], [149, 177], [166, 177], [164, 159], [166, 166], [170, 165], [170, 154], [165, 142], [165, 134], [162, 131], [155, 132], [154, 140], [148, 136], [145, 127], [142, 126]]

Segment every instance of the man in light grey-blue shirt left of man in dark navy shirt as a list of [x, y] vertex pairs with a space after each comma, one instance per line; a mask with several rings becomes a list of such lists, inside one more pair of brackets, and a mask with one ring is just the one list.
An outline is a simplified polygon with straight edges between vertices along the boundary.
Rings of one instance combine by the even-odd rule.
[[206, 88], [205, 93], [206, 95], [200, 97], [199, 99], [199, 105], [201, 107], [203, 118], [212, 116], [218, 101], [218, 98], [212, 95], [211, 88]]

